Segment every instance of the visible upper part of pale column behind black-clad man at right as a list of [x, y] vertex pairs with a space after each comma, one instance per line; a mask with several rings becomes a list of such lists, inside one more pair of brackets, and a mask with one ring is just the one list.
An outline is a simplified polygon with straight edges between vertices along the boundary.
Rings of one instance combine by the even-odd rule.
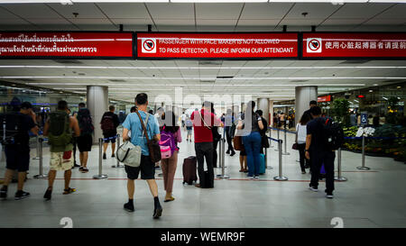
[[295, 122], [300, 121], [303, 112], [309, 109], [309, 102], [311, 100], [318, 100], [318, 87], [296, 87], [295, 88], [295, 103], [296, 103], [296, 116]]

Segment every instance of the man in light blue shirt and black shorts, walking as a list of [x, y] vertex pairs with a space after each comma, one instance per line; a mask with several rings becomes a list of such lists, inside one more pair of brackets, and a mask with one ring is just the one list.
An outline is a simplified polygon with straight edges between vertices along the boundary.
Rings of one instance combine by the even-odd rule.
[[[161, 139], [160, 130], [158, 124], [155, 122], [155, 117], [152, 114], [147, 113], [148, 96], [145, 93], [140, 93], [135, 96], [135, 105], [138, 107], [138, 113], [141, 115], [143, 122], [146, 122], [148, 116], [148, 122], [145, 125], [149, 139], [152, 138]], [[146, 180], [150, 187], [153, 200], [153, 218], [159, 218], [162, 214], [162, 207], [158, 198], [158, 186], [155, 182], [155, 164], [152, 162], [148, 145], [143, 132], [143, 125], [140, 122], [140, 118], [137, 114], [128, 114], [123, 123], [123, 140], [129, 141], [130, 137], [128, 132], [131, 132], [131, 142], [135, 146], [140, 146], [142, 150], [141, 164], [138, 168], [125, 166], [125, 172], [127, 173], [127, 191], [128, 191], [128, 203], [124, 205], [124, 208], [128, 212], [134, 212], [134, 180], [138, 178], [141, 171], [141, 178]]]

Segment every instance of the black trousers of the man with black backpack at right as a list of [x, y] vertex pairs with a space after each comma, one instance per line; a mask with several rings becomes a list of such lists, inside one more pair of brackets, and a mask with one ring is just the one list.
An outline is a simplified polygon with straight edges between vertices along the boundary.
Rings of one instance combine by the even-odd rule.
[[334, 159], [336, 159], [335, 151], [310, 151], [311, 187], [318, 187], [321, 165], [324, 164], [324, 169], [326, 169], [326, 192], [333, 192]]

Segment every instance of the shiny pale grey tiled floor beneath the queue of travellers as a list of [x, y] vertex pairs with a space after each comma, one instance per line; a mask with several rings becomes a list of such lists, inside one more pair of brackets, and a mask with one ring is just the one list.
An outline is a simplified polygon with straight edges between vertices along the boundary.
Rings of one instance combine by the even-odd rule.
[[[276, 136], [272, 132], [272, 136]], [[283, 135], [281, 135], [282, 137]], [[290, 147], [293, 135], [288, 134]], [[109, 154], [109, 151], [107, 153]], [[107, 179], [92, 179], [98, 169], [98, 147], [90, 154], [88, 174], [75, 169], [71, 187], [78, 192], [63, 196], [63, 181], [56, 180], [51, 202], [44, 202], [46, 179], [34, 179], [38, 160], [32, 160], [25, 189], [32, 196], [14, 201], [15, 184], [9, 188], [9, 199], [0, 202], [0, 227], [62, 227], [60, 219], [70, 217], [74, 227], [326, 227], [331, 219], [340, 217], [344, 227], [406, 227], [406, 165], [390, 158], [366, 157], [370, 171], [359, 171], [361, 155], [343, 151], [343, 176], [348, 181], [336, 182], [335, 198], [325, 198], [324, 183], [319, 192], [307, 189], [309, 174], [300, 173], [299, 154], [288, 149], [283, 156], [283, 175], [289, 181], [274, 181], [278, 175], [278, 155], [268, 150], [267, 173], [259, 181], [248, 180], [238, 172], [238, 155], [226, 155], [226, 174], [229, 180], [216, 180], [214, 189], [198, 189], [182, 185], [182, 159], [194, 155], [194, 144], [180, 143], [180, 161], [176, 172], [171, 203], [161, 203], [163, 215], [152, 219], [153, 201], [145, 181], [135, 182], [135, 212], [123, 210], [127, 199], [124, 169], [113, 169], [115, 159], [103, 160]], [[107, 154], [107, 155], [108, 155]], [[35, 156], [35, 150], [32, 150]], [[49, 152], [44, 149], [44, 172], [48, 171]], [[221, 169], [216, 169], [219, 174]], [[0, 163], [0, 176], [5, 161]], [[158, 171], [159, 172], [159, 171]], [[58, 178], [63, 178], [62, 173]], [[158, 176], [157, 176], [158, 178]], [[158, 178], [160, 198], [164, 191]]]

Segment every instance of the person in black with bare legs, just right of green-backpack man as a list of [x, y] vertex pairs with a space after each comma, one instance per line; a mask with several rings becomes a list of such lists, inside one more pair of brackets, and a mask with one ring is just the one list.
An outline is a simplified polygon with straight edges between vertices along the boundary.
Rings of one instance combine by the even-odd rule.
[[82, 173], [88, 172], [88, 151], [91, 151], [93, 138], [92, 134], [95, 131], [95, 127], [92, 123], [92, 117], [90, 116], [90, 111], [86, 108], [84, 103], [78, 104], [78, 126], [80, 129], [80, 136], [77, 138], [80, 168], [79, 171]]

